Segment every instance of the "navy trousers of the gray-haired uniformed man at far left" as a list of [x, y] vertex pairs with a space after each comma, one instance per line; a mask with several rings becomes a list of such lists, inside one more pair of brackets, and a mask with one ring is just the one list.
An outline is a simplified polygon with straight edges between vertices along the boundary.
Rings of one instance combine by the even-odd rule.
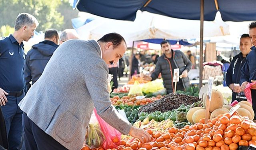
[[6, 124], [9, 150], [17, 150], [22, 141], [22, 110], [18, 104], [24, 96], [24, 93], [19, 97], [6, 96], [8, 102], [5, 106], [1, 106]]

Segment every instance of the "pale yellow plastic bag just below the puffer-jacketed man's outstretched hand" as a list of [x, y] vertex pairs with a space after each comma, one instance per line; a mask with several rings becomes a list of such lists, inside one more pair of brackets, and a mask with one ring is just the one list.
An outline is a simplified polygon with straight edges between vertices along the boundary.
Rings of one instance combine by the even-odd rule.
[[144, 93], [154, 93], [162, 89], [164, 89], [164, 84], [160, 79], [148, 82], [142, 86], [142, 92]]

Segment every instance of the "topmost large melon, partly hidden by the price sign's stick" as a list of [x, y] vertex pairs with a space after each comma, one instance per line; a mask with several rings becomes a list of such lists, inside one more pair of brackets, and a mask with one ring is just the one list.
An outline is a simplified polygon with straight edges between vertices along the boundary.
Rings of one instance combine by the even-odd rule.
[[[206, 94], [204, 94], [204, 98], [203, 98], [203, 105], [205, 108], [205, 103], [206, 103]], [[218, 109], [218, 108], [222, 108], [223, 107], [223, 95], [221, 92], [217, 91], [217, 90], [212, 90], [212, 98], [211, 98], [211, 102], [210, 102], [210, 112], [213, 112], [214, 110]]]

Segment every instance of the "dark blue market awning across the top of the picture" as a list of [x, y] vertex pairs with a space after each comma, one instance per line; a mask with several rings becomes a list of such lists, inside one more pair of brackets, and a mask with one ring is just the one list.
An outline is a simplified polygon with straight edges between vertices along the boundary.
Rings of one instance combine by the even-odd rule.
[[[118, 20], [133, 21], [137, 10], [200, 20], [200, 0], [74, 0], [73, 8]], [[204, 20], [214, 20], [217, 11], [224, 21], [256, 20], [255, 0], [204, 0]]]

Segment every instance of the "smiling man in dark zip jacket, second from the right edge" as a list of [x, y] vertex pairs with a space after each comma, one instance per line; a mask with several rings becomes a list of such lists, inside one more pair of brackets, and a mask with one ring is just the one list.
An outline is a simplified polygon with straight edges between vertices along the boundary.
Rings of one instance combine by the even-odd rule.
[[250, 40], [249, 34], [243, 34], [240, 38], [240, 53], [234, 56], [228, 70], [226, 73], [226, 84], [233, 91], [232, 102], [237, 100], [236, 96], [241, 92], [241, 86], [239, 85], [241, 78], [241, 69], [244, 66], [246, 56], [251, 51], [252, 42]]

